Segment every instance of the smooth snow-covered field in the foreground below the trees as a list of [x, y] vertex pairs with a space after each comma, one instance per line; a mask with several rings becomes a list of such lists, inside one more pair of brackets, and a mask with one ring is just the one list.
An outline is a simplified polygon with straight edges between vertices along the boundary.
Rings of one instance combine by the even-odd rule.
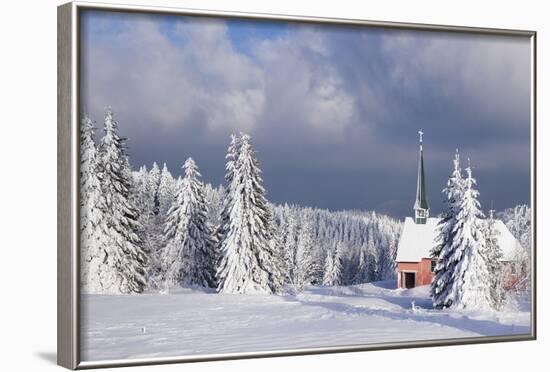
[[298, 296], [199, 289], [83, 295], [81, 356], [97, 361], [530, 332], [527, 303], [499, 313], [438, 311], [428, 287], [393, 285], [309, 287]]

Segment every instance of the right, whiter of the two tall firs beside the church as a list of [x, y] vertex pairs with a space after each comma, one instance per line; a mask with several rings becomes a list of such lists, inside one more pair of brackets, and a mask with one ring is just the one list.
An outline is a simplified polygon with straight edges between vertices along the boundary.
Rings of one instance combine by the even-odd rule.
[[452, 256], [454, 263], [452, 281], [442, 294], [445, 305], [460, 309], [491, 308], [490, 277], [485, 263], [485, 236], [483, 213], [475, 189], [476, 180], [472, 168], [466, 168], [464, 194], [453, 229]]

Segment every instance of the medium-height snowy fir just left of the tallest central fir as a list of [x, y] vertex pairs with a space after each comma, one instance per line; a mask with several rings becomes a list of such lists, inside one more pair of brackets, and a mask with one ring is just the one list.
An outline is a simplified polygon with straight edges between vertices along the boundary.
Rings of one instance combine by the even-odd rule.
[[164, 230], [165, 281], [167, 285], [215, 287], [216, 254], [204, 185], [193, 159], [187, 159], [183, 169], [185, 176]]

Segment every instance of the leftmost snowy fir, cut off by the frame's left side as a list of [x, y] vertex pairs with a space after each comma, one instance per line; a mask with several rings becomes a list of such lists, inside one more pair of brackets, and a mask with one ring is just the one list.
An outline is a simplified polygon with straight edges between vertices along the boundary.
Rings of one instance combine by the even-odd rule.
[[116, 281], [117, 272], [106, 264], [105, 217], [101, 208], [95, 127], [88, 116], [80, 126], [80, 252], [81, 290], [101, 293]]

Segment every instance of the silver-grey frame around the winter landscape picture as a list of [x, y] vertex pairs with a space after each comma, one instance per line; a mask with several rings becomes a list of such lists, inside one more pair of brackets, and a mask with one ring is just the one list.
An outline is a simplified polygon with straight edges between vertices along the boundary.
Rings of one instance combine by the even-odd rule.
[[[131, 360], [87, 362], [80, 359], [79, 293], [79, 16], [81, 10], [96, 9], [138, 13], [165, 13], [241, 19], [269, 19], [286, 22], [356, 25], [376, 28], [444, 31], [529, 37], [531, 40], [531, 218], [532, 218], [532, 293], [531, 333], [525, 335], [468, 337], [428, 341], [388, 342], [323, 348], [303, 348], [230, 354], [207, 354]], [[398, 22], [379, 22], [341, 18], [303, 17], [155, 6], [130, 6], [92, 2], [72, 2], [58, 7], [58, 144], [57, 144], [57, 362], [69, 369], [119, 367], [161, 363], [200, 362], [242, 358], [342, 353], [380, 349], [400, 349], [535, 340], [536, 313], [536, 32], [494, 28], [441, 26]]]

